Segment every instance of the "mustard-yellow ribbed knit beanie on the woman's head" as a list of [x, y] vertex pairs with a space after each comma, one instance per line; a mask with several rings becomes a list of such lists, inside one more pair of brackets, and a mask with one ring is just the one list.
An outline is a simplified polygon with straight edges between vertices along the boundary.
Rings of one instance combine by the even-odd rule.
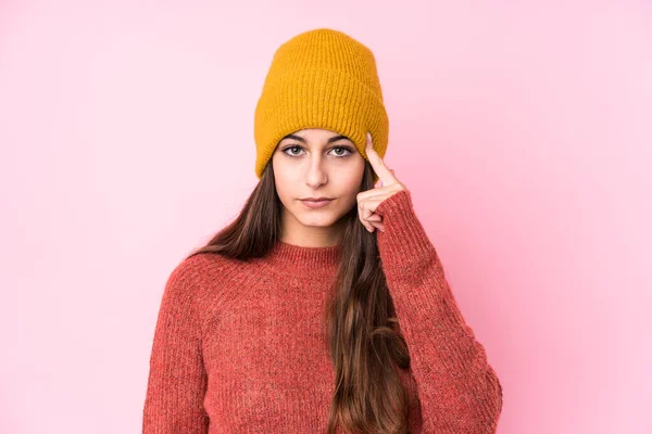
[[[304, 31], [275, 52], [255, 107], [255, 174], [261, 179], [278, 142], [304, 128], [328, 129], [365, 152], [366, 132], [385, 156], [389, 119], [372, 51], [329, 28]], [[374, 174], [374, 184], [378, 180]]]

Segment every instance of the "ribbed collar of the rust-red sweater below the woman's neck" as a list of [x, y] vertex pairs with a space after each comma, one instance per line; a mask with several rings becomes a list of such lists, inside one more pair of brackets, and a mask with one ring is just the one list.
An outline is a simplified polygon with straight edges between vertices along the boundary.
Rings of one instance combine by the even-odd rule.
[[340, 245], [306, 247], [277, 240], [265, 261], [284, 273], [325, 277], [337, 272], [340, 255]]

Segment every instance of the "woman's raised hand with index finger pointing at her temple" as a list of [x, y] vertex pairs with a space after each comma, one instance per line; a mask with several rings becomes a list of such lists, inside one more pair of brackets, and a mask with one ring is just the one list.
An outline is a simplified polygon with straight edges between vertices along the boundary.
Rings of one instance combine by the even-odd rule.
[[376, 228], [385, 232], [383, 218], [375, 214], [375, 210], [383, 201], [392, 194], [406, 189], [405, 186], [394, 177], [393, 170], [385, 165], [380, 155], [374, 150], [372, 136], [367, 132], [366, 137], [365, 151], [367, 158], [369, 159], [374, 171], [378, 175], [380, 186], [358, 193], [358, 217], [369, 232], [373, 232]]

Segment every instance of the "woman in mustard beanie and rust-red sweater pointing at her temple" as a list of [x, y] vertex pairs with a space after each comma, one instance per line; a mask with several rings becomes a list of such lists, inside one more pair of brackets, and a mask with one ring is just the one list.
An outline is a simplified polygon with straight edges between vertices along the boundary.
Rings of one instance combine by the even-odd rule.
[[277, 50], [260, 182], [165, 285], [143, 433], [496, 432], [501, 384], [381, 159], [388, 126], [365, 46], [319, 28]]

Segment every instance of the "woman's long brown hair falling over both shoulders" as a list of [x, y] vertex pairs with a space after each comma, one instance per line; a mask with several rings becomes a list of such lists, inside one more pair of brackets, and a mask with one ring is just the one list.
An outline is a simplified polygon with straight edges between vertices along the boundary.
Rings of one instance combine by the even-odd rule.
[[[361, 191], [372, 189], [373, 180], [365, 161]], [[189, 256], [265, 256], [279, 239], [281, 207], [269, 161], [236, 219]], [[356, 206], [342, 218], [341, 260], [324, 312], [336, 379], [327, 432], [334, 434], [339, 424], [351, 434], [409, 433], [408, 397], [394, 363], [409, 368], [410, 355], [383, 272], [376, 231], [368, 232], [359, 221]]]

